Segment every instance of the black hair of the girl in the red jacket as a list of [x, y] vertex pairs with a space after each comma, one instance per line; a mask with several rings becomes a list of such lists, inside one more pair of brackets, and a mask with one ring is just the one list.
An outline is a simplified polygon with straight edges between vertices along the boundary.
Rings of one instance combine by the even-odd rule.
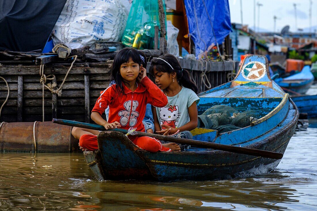
[[140, 53], [135, 48], [123, 48], [120, 50], [113, 59], [112, 64], [112, 74], [111, 74], [111, 80], [115, 81], [117, 92], [120, 94], [124, 94], [123, 86], [122, 86], [122, 77], [120, 74], [120, 67], [123, 63], [129, 62], [129, 60], [132, 59], [133, 62], [139, 64], [141, 66], [142, 60], [140, 57]]

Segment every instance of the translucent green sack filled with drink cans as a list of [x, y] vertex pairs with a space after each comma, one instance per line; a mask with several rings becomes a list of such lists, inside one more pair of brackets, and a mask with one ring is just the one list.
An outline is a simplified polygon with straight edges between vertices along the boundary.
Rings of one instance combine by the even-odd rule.
[[[165, 11], [164, 0], [163, 5]], [[154, 26], [160, 28], [158, 1], [134, 0], [121, 39], [122, 44], [137, 49], [154, 49]]]

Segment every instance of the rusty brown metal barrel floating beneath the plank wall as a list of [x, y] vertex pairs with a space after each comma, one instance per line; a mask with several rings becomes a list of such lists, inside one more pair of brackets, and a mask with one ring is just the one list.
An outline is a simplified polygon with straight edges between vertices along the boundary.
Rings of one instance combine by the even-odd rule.
[[0, 123], [0, 152], [72, 152], [79, 150], [72, 127], [52, 122]]

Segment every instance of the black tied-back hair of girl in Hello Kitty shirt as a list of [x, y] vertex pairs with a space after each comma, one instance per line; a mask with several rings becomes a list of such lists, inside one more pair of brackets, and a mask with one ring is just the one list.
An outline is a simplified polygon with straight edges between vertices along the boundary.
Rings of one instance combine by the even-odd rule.
[[196, 94], [198, 93], [198, 87], [196, 86], [195, 81], [191, 77], [191, 74], [188, 70], [182, 69], [175, 56], [173, 56], [172, 54], [163, 54], [158, 58], [167, 61], [173, 67], [173, 69], [165, 61], [162, 61], [160, 59], [152, 59], [150, 74], [153, 75], [154, 70], [168, 74], [175, 72], [177, 75], [179, 85], [193, 90]]

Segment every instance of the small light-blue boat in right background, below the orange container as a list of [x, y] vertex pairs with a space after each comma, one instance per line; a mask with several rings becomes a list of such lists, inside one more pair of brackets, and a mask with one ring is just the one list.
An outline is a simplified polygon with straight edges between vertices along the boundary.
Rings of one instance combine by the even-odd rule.
[[310, 72], [308, 65], [304, 66], [300, 73], [288, 76], [286, 78], [277, 78], [275, 82], [285, 88], [284, 91], [292, 94], [297, 92], [305, 94], [314, 82], [314, 75]]

